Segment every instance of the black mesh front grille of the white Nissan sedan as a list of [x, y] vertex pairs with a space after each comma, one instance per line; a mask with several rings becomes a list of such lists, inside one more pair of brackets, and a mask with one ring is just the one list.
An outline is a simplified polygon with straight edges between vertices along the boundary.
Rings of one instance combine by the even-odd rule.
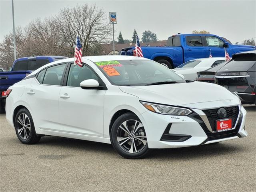
[[[238, 106], [224, 107], [224, 109], [226, 109], [226, 112], [227, 112], [226, 118], [232, 118], [232, 128], [234, 128], [234, 126], [236, 125], [238, 114], [239, 114], [239, 107]], [[216, 131], [216, 120], [221, 119], [217, 114], [218, 110], [219, 108], [203, 110], [214, 132]]]

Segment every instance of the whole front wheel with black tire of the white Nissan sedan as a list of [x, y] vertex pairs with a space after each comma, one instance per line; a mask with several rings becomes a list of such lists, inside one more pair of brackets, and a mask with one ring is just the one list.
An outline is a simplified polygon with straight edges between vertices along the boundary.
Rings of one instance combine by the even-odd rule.
[[114, 149], [128, 159], [144, 158], [150, 149], [140, 119], [132, 113], [121, 115], [114, 122], [110, 140]]

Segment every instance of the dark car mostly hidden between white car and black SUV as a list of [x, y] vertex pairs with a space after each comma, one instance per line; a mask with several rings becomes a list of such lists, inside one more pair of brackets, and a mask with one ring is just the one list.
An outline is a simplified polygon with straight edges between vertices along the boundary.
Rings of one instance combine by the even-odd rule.
[[197, 76], [196, 76], [196, 81], [201, 81], [201, 82], [207, 82], [207, 83], [214, 83], [215, 82], [215, 76], [216, 76], [216, 72], [218, 70], [220, 70], [220, 68], [222, 68], [224, 65], [227, 64], [227, 61], [222, 62], [216, 66], [213, 66], [205, 71], [200, 71], [197, 72]]

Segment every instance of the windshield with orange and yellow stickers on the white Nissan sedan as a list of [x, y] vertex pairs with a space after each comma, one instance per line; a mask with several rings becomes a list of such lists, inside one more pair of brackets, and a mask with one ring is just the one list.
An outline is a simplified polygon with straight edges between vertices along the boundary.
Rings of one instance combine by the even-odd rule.
[[152, 60], [116, 60], [95, 64], [113, 85], [145, 86], [186, 82], [170, 69]]

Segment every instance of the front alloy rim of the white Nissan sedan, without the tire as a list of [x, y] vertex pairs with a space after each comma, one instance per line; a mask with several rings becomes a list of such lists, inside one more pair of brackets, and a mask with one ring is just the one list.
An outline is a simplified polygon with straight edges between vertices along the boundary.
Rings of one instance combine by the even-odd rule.
[[137, 120], [126, 120], [118, 128], [117, 141], [126, 152], [140, 152], [147, 144], [144, 126]]

